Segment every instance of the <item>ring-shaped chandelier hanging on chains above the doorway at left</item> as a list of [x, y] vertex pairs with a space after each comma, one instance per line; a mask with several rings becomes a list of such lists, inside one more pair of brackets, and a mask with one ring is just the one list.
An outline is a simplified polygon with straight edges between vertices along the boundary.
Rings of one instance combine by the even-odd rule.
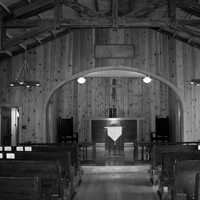
[[39, 87], [40, 86], [39, 81], [29, 80], [29, 79], [26, 78], [28, 73], [30, 73], [30, 68], [29, 68], [27, 60], [28, 60], [28, 52], [27, 52], [27, 48], [25, 48], [24, 64], [19, 69], [19, 72], [16, 76], [16, 79], [9, 83], [10, 87], [24, 87], [24, 88], [29, 89], [29, 88], [32, 88], [32, 87]]

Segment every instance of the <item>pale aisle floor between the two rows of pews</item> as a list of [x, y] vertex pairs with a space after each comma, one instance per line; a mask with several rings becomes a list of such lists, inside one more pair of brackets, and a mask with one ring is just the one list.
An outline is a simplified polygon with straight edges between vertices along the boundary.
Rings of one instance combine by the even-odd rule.
[[74, 200], [156, 200], [149, 166], [84, 166]]

